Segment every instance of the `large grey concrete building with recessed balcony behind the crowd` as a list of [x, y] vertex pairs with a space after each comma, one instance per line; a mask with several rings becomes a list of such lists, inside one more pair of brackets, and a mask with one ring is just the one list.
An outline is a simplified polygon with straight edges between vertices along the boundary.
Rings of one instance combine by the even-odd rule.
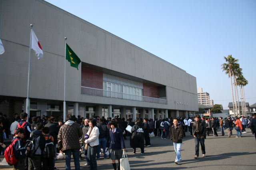
[[[196, 77], [44, 0], [0, 0], [0, 112], [12, 118], [26, 111], [30, 24], [44, 57], [32, 50], [30, 117], [185, 117], [198, 111]], [[80, 57], [66, 63], [64, 38]], [[186, 67], [186, 66], [184, 66]]]

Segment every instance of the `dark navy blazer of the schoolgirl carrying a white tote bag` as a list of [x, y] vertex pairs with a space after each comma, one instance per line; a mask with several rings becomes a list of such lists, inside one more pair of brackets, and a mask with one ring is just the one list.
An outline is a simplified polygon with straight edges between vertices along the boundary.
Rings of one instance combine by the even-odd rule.
[[106, 147], [110, 149], [125, 149], [122, 129], [116, 128], [114, 133], [112, 129], [110, 130], [106, 141]]

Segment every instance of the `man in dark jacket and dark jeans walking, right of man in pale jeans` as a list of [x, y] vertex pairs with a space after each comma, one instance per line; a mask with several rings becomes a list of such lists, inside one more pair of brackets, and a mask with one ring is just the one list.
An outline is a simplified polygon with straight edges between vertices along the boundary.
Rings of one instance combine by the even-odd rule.
[[204, 136], [206, 135], [206, 125], [204, 122], [200, 121], [199, 115], [195, 115], [192, 131], [196, 144], [196, 156], [194, 156], [194, 158], [197, 159], [199, 157], [199, 142], [201, 144], [203, 157], [205, 157]]

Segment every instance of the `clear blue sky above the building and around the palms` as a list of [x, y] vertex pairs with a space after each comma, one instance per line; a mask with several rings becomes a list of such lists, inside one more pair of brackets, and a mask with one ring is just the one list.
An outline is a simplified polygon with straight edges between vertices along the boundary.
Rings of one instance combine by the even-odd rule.
[[184, 69], [224, 109], [232, 97], [220, 65], [231, 54], [256, 103], [255, 0], [46, 1]]

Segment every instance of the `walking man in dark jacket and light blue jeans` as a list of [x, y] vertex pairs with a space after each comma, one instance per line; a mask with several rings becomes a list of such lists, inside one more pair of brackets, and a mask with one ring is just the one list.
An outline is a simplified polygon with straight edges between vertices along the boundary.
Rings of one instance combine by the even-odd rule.
[[180, 151], [181, 151], [181, 145], [182, 145], [182, 138], [183, 138], [182, 126], [178, 126], [178, 119], [174, 118], [173, 125], [170, 129], [170, 139], [173, 142], [173, 146], [176, 154], [176, 159], [174, 161], [175, 164], [178, 164], [179, 162], [181, 162]]

